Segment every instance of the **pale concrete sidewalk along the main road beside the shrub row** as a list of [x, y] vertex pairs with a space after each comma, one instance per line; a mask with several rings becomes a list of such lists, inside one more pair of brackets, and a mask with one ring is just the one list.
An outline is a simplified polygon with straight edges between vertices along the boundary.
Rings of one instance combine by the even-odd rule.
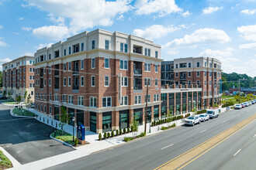
[[[220, 108], [220, 110], [223, 112], [226, 110], [226, 108]], [[36, 113], [36, 110], [30, 110], [33, 111], [33, 113]], [[37, 112], [38, 113], [38, 112]], [[37, 119], [39, 121], [39, 119]], [[42, 120], [41, 120], [42, 121]], [[45, 123], [45, 122], [44, 122]], [[161, 124], [154, 127], [151, 127], [151, 132], [149, 133], [150, 124], [147, 124], [147, 136], [152, 134], [157, 134], [163, 130], [161, 130], [161, 127], [166, 127], [171, 124], [176, 124], [176, 126], [181, 126], [182, 120], [178, 121], [172, 121], [171, 123]], [[90, 133], [88, 133], [90, 132]], [[139, 131], [137, 132], [137, 135], [144, 132], [144, 125], [139, 126]], [[75, 151], [70, 151], [61, 155], [55, 155], [50, 158], [44, 158], [36, 162], [30, 162], [25, 165], [16, 165], [14, 168], [11, 169], [43, 169], [43, 168], [49, 168], [54, 165], [59, 165], [64, 162], [69, 162], [77, 158], [85, 157], [87, 155], [91, 155], [92, 153], [96, 151], [102, 151], [107, 148], [112, 148], [114, 146], [123, 145], [126, 143], [123, 141], [125, 137], [133, 137], [133, 133], [130, 132], [129, 134], [123, 134], [120, 136], [116, 136], [113, 138], [108, 138], [106, 140], [99, 141], [99, 134], [95, 134], [92, 131], [86, 131], [85, 141], [88, 141], [90, 144], [88, 145], [82, 145], [80, 147], [75, 148]]]

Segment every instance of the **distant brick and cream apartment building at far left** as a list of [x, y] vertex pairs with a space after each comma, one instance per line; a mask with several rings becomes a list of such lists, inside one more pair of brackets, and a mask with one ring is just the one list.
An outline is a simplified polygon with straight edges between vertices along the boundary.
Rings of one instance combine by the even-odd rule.
[[12, 98], [21, 95], [22, 100], [25, 91], [34, 100], [34, 57], [22, 56], [9, 63], [2, 64], [2, 87], [6, 93], [11, 92]]

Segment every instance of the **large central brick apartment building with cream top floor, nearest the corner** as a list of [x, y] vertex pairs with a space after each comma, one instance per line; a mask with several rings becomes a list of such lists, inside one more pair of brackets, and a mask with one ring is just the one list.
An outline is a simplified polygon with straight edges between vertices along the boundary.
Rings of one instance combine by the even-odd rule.
[[153, 113], [161, 117], [161, 60], [161, 46], [147, 39], [81, 32], [36, 51], [35, 109], [58, 120], [63, 105], [76, 118], [69, 124], [97, 133], [127, 128], [133, 117], [144, 122], [148, 81], [152, 121]]

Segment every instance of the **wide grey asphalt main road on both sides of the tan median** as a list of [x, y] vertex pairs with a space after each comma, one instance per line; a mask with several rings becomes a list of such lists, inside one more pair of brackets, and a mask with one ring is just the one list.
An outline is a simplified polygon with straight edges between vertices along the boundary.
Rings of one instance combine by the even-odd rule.
[[[98, 153], [47, 169], [154, 169], [172, 158], [182, 155], [185, 151], [189, 151], [189, 149], [194, 148], [202, 142], [207, 141], [216, 134], [220, 134], [247, 117], [251, 117], [255, 114], [255, 109], [256, 104], [242, 110], [230, 110], [227, 113], [220, 114], [216, 119], [197, 124], [195, 127], [182, 126], [173, 128], [150, 137], [131, 141], [128, 144], [109, 148], [106, 151], [99, 151]], [[252, 134], [256, 134], [254, 127], [255, 122], [228, 140], [223, 141], [221, 145], [202, 155], [195, 160], [195, 163], [192, 162], [185, 166], [185, 168], [216, 169], [219, 167], [227, 169], [234, 167], [236, 169], [236, 167], [239, 167], [238, 164], [240, 162], [244, 162], [243, 165], [246, 162], [251, 162], [245, 169], [255, 169], [254, 151], [256, 137], [251, 138]], [[239, 140], [237, 141], [236, 139]], [[244, 142], [247, 142], [247, 144]], [[223, 164], [223, 160], [228, 159], [226, 155], [230, 155], [231, 153], [234, 155], [234, 151], [242, 148], [240, 146], [244, 146], [244, 148], [238, 153], [239, 155], [237, 154], [237, 158], [230, 158], [229, 163]], [[219, 150], [215, 152], [215, 149], [218, 148]], [[208, 154], [209, 157], [207, 157]], [[243, 155], [244, 157], [242, 157]], [[215, 158], [218, 159], [213, 161]], [[240, 158], [240, 162], [237, 161], [238, 158]], [[202, 159], [201, 162], [200, 159]]]

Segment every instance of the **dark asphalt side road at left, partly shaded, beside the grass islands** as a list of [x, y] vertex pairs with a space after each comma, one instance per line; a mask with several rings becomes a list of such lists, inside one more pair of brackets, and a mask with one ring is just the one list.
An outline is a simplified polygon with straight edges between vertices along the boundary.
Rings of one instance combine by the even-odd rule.
[[9, 107], [0, 104], [0, 146], [21, 164], [59, 155], [74, 148], [49, 137], [53, 128], [33, 118], [12, 117]]

